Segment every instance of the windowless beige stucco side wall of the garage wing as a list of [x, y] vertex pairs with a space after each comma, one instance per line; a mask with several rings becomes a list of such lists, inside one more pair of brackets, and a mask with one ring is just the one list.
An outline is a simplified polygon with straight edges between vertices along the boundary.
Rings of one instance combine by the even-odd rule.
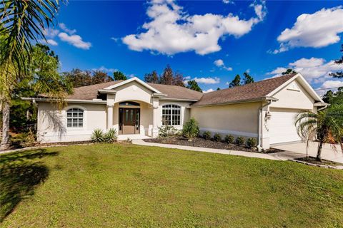
[[257, 137], [261, 103], [242, 103], [191, 108], [190, 115], [199, 122], [202, 132], [210, 131]]

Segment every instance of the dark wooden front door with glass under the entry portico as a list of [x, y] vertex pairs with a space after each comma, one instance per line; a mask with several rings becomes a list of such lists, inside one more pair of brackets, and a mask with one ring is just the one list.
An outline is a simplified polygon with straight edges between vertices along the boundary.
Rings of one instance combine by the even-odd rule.
[[119, 134], [139, 134], [139, 108], [119, 108]]

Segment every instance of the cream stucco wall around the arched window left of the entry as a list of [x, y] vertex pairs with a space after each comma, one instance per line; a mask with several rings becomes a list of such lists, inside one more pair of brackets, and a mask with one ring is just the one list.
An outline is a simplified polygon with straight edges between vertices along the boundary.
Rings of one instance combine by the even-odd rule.
[[[66, 128], [66, 110], [84, 110], [83, 128]], [[40, 142], [89, 140], [94, 129], [106, 130], [106, 105], [69, 103], [59, 111], [50, 103], [38, 103], [37, 135]]]

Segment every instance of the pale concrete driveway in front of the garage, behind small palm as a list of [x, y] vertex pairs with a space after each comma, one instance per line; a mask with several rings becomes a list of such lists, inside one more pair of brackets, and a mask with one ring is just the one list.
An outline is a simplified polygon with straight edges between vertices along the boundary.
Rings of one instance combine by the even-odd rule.
[[[285, 158], [297, 158], [306, 155], [306, 142], [297, 142], [287, 145], [273, 146], [274, 148], [285, 150], [284, 152], [277, 152], [270, 154], [280, 160]], [[318, 142], [309, 142], [309, 155], [316, 157], [317, 155]], [[334, 162], [343, 163], [343, 152], [339, 145], [324, 144], [322, 149], [322, 158], [325, 160], [332, 160]]]

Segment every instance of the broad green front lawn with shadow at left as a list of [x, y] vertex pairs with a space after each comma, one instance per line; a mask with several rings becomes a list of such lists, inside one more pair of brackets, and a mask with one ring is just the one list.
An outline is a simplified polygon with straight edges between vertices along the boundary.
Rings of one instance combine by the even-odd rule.
[[0, 156], [1, 227], [343, 227], [343, 172], [136, 145]]

